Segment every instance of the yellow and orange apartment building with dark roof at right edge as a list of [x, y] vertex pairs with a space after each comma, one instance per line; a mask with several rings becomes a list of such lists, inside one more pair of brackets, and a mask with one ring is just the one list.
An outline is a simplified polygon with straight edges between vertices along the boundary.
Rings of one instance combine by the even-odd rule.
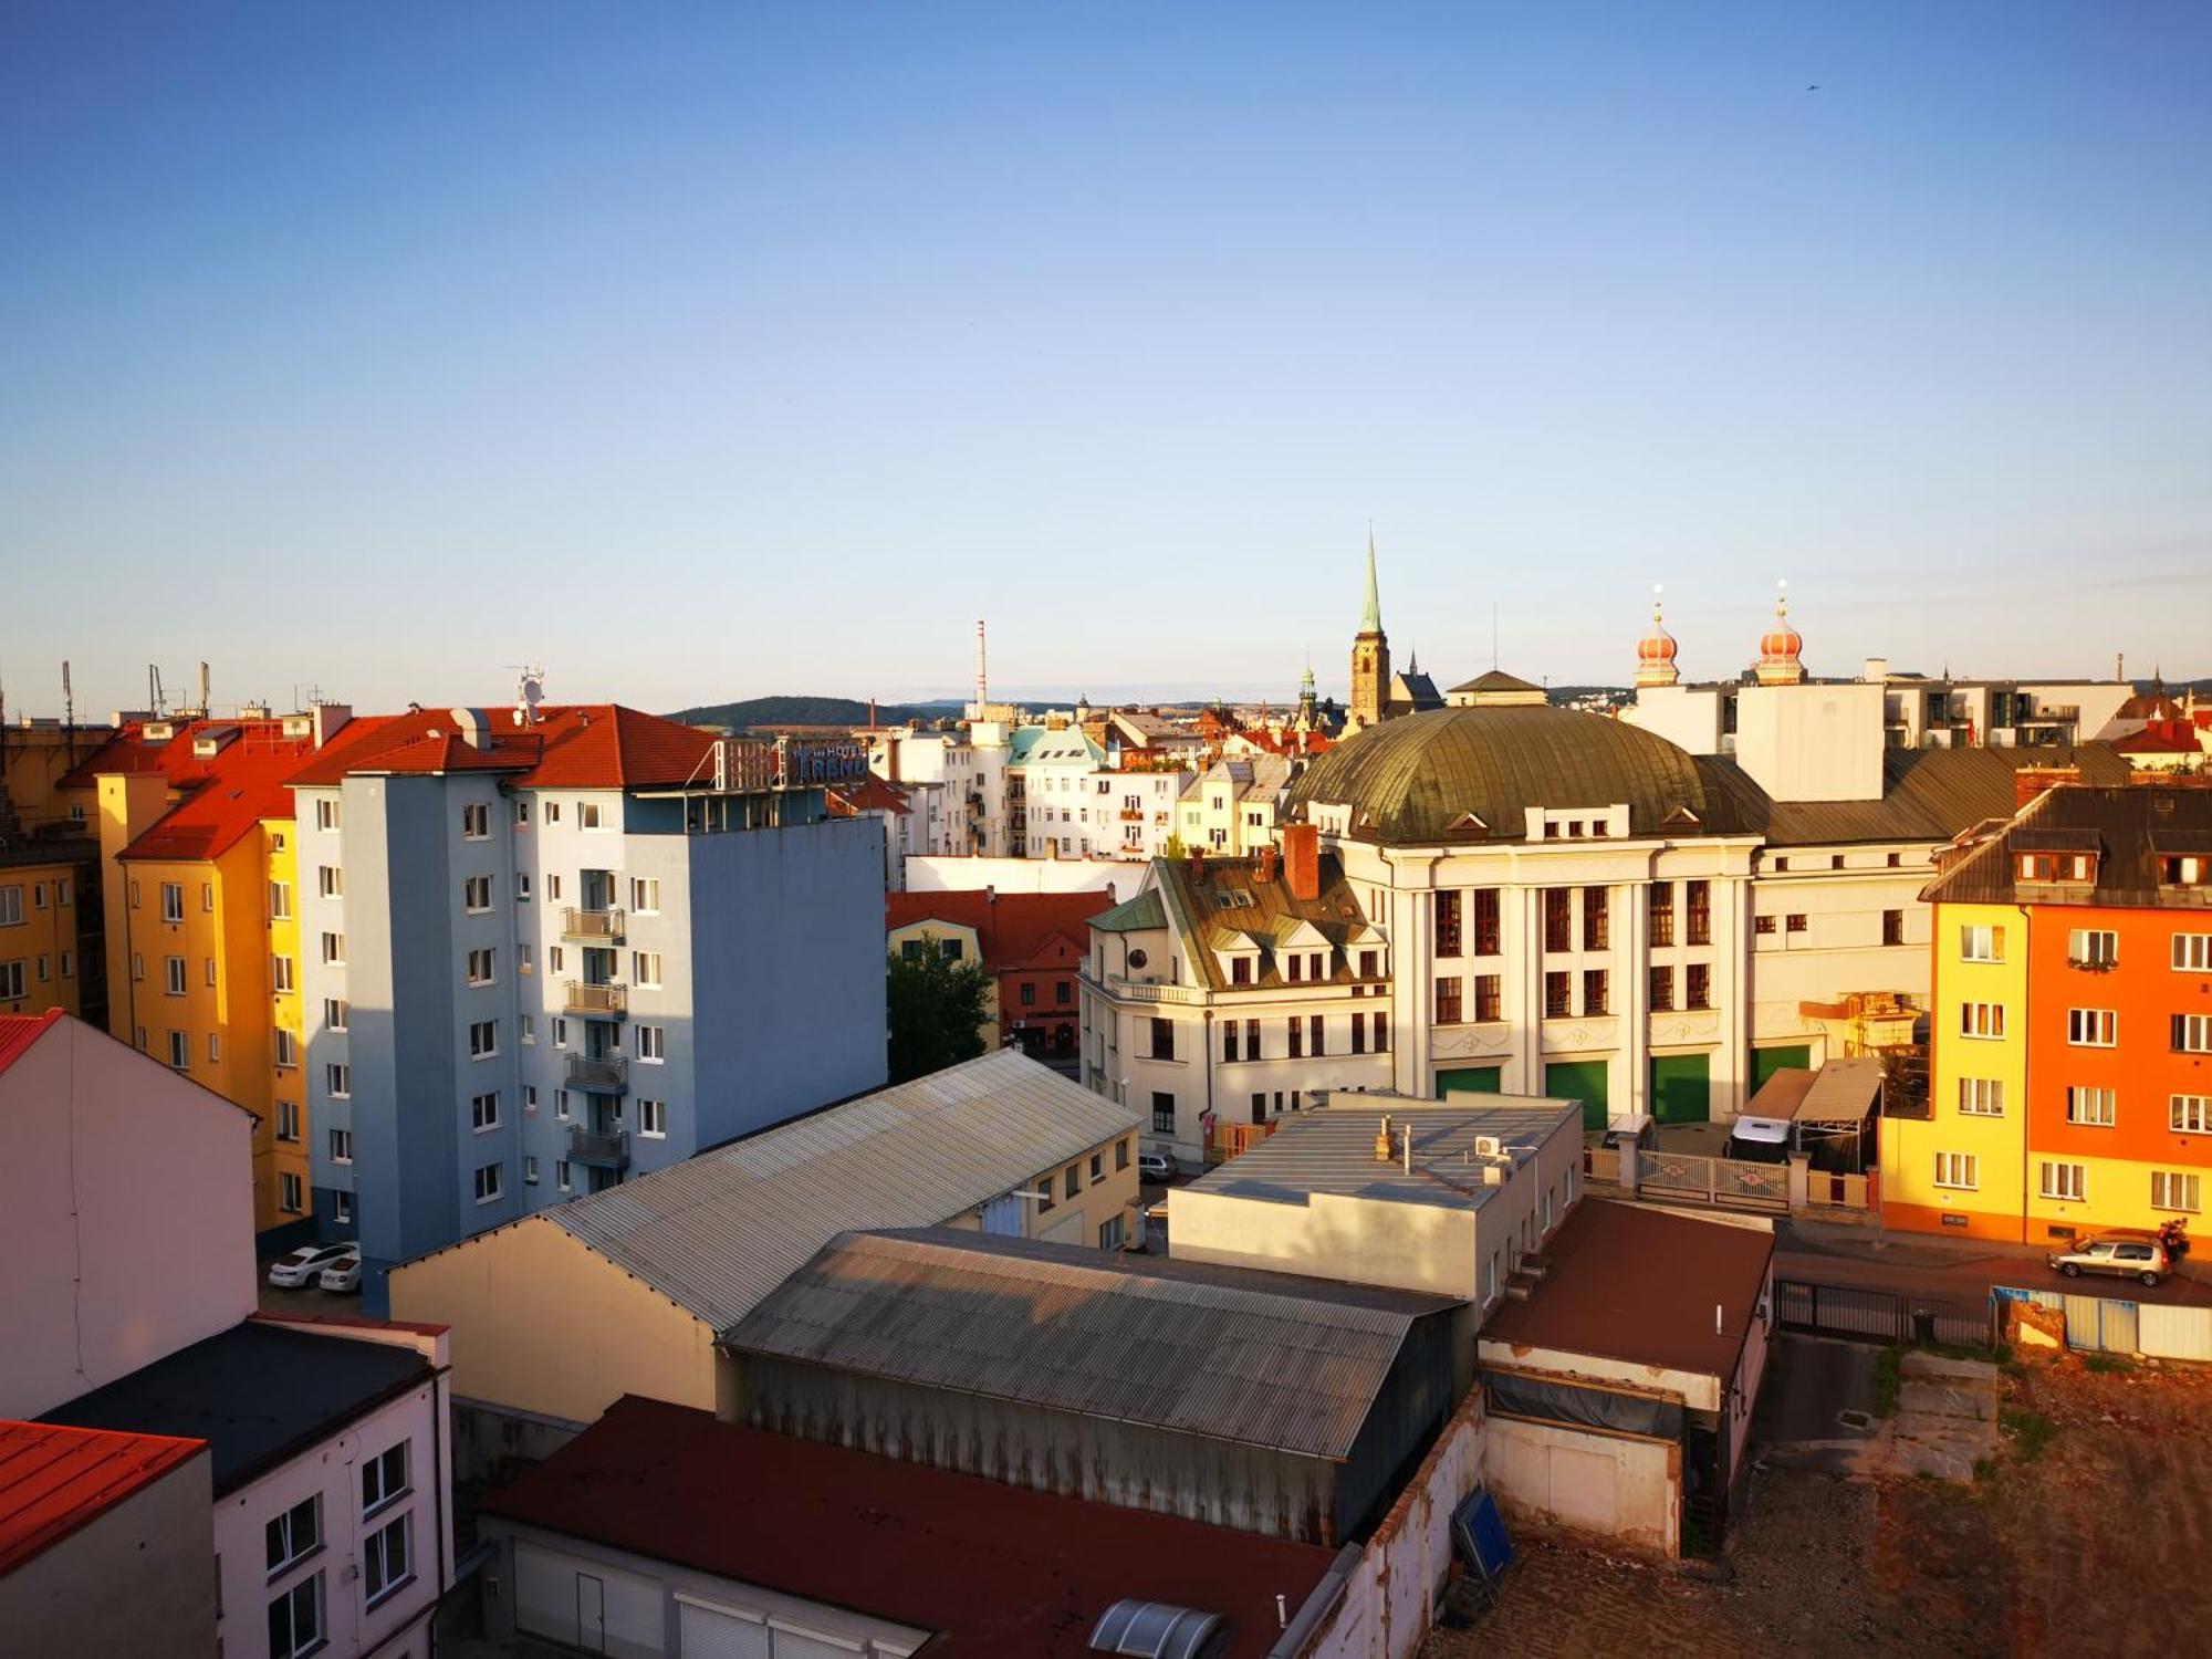
[[2199, 1223], [2212, 790], [2051, 790], [1927, 896], [1931, 1110], [1885, 1119], [1885, 1223], [2024, 1243]]

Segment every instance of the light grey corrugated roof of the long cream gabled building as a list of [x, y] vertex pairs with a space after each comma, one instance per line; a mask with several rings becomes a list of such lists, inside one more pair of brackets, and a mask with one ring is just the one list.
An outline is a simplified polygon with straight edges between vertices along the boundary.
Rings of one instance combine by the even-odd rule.
[[721, 1332], [847, 1228], [951, 1221], [1137, 1126], [1002, 1048], [542, 1217]]

